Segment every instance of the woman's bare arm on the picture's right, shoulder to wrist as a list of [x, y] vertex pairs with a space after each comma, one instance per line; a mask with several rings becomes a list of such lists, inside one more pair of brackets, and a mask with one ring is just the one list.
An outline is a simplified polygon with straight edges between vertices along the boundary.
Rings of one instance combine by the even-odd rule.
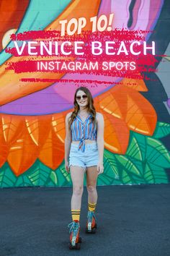
[[103, 163], [104, 154], [104, 118], [101, 113], [97, 114], [97, 146], [99, 150], [99, 163]]

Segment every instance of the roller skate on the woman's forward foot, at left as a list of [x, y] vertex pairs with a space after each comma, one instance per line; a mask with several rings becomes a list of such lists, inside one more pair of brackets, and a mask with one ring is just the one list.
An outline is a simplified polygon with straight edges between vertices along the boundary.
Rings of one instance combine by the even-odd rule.
[[80, 233], [79, 221], [71, 222], [70, 224], [68, 224], [68, 228], [71, 228], [69, 231], [69, 234], [71, 233], [69, 249], [80, 249], [81, 237], [79, 236], [79, 233]]

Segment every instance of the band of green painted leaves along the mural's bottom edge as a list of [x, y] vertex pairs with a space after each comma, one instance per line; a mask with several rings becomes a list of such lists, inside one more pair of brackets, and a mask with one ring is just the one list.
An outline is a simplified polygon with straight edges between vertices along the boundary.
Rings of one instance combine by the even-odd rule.
[[[169, 151], [161, 137], [170, 134], [170, 124], [157, 123], [152, 137], [130, 132], [130, 141], [125, 155], [114, 154], [104, 149], [104, 173], [97, 179], [98, 186], [120, 184], [169, 183], [166, 169], [170, 168]], [[86, 175], [84, 175], [84, 186]], [[70, 187], [71, 174], [65, 163], [52, 170], [39, 159], [24, 174], [15, 176], [6, 162], [0, 168], [0, 187]]]

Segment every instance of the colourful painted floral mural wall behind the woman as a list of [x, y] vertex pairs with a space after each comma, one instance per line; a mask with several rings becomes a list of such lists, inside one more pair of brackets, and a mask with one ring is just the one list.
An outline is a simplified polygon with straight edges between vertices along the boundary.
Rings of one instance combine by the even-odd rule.
[[[62, 15], [91, 17], [112, 12], [112, 29], [153, 30], [146, 40], [156, 42], [156, 72], [143, 72], [149, 78], [143, 80], [122, 77], [120, 85], [112, 82], [107, 88], [89, 84], [105, 124], [104, 173], [97, 185], [170, 182], [170, 1], [14, 0], [7, 5], [1, 0], [0, 187], [72, 185], [64, 168], [65, 118], [73, 111], [78, 85], [19, 82], [21, 74], [6, 70], [6, 61], [15, 58], [6, 51], [12, 46], [10, 34], [54, 29]], [[86, 79], [94, 80], [94, 75]], [[61, 80], [84, 77], [62, 74]], [[24, 85], [27, 89], [22, 90]]]

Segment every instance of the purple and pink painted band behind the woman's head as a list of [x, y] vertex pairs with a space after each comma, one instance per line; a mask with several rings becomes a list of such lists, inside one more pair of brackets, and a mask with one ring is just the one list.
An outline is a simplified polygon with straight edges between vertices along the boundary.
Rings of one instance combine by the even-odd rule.
[[[114, 83], [117, 77], [105, 77], [104, 75], [95, 76], [91, 74], [66, 74], [63, 79], [70, 80], [98, 80]], [[62, 79], [61, 79], [62, 81]], [[32, 93], [16, 101], [0, 106], [0, 113], [20, 114], [20, 115], [42, 115], [60, 113], [73, 108], [73, 97], [76, 89], [81, 84], [75, 85], [73, 82], [56, 82], [49, 88]], [[91, 91], [92, 96], [99, 95], [105, 90], [109, 90], [114, 85], [96, 85], [87, 87]]]

